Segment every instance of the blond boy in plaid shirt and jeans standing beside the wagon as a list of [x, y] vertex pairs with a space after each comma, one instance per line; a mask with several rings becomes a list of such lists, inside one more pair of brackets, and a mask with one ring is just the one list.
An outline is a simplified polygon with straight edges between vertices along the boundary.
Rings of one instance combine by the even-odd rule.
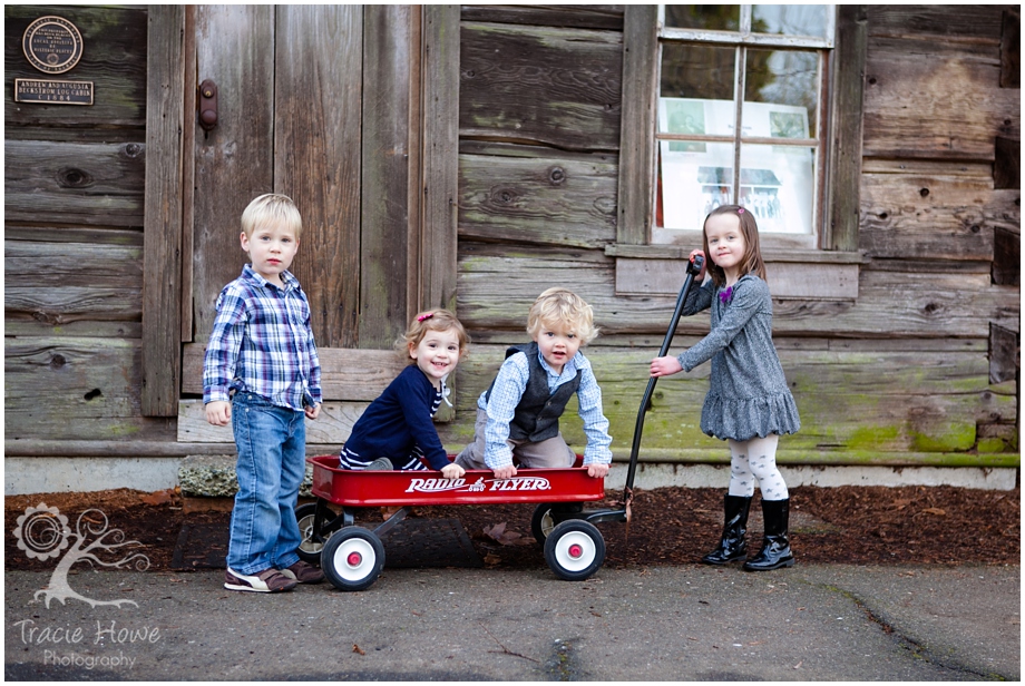
[[304, 418], [316, 419], [321, 406], [310, 304], [287, 271], [301, 233], [302, 218], [290, 198], [266, 194], [250, 203], [240, 241], [251, 264], [221, 292], [206, 349], [206, 421], [231, 422], [238, 450], [224, 572], [230, 590], [277, 592], [324, 578], [295, 552]]

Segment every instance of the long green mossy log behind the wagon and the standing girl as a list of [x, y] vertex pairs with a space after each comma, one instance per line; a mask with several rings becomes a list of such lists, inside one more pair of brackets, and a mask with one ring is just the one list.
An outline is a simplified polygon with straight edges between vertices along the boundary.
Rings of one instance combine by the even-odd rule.
[[[459, 422], [446, 430], [446, 440], [469, 440], [472, 420], [468, 418], [494, 378], [504, 347], [475, 346], [472, 356], [460, 364], [460, 384], [467, 392], [457, 403]], [[647, 351], [588, 347], [585, 354], [602, 385], [613, 450], [625, 459], [647, 384], [647, 364], [657, 346]], [[802, 419], [801, 431], [781, 441], [789, 451], [848, 453], [856, 463], [887, 459], [880, 453], [968, 451], [977, 443], [977, 422], [1013, 421], [1016, 412], [1014, 383], [990, 385], [984, 352], [781, 351], [780, 357]], [[699, 427], [707, 373], [709, 366], [702, 365], [660, 381], [645, 418], [645, 452], [718, 449], [729, 455], [721, 441], [704, 435]], [[582, 449], [586, 439], [575, 405], [567, 408], [560, 424], [570, 444]], [[875, 457], [865, 457], [872, 451]]]

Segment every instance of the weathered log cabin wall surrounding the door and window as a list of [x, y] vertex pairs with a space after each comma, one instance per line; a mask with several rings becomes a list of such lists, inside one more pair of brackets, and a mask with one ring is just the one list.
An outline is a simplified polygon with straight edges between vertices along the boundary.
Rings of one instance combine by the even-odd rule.
[[[632, 92], [634, 63], [624, 60], [629, 11], [462, 6], [458, 12], [458, 99], [453, 119], [442, 122], [458, 125], [458, 149], [411, 141], [424, 158], [455, 157], [448, 161], [458, 168], [457, 263], [455, 274], [437, 281], [455, 278], [455, 304], [474, 340], [457, 372], [455, 419], [439, 424], [453, 450], [470, 439], [477, 396], [505, 347], [527, 339], [530, 303], [548, 286], [565, 285], [594, 306], [602, 334], [585, 352], [602, 383], [616, 457], [628, 457], [647, 362], [675, 300], [617, 291], [621, 126], [632, 105], [623, 98]], [[82, 33], [87, 49], [69, 78], [94, 82], [89, 107], [14, 101], [13, 79], [39, 77], [25, 59], [22, 35], [48, 14], [69, 18]], [[180, 351], [157, 349], [168, 356], [168, 373], [179, 374], [178, 398], [147, 400], [144, 391], [144, 330], [185, 326], [177, 316], [160, 324], [163, 315], [143, 296], [147, 273], [166, 272], [168, 288], [180, 290], [187, 282], [179, 271], [189, 268], [182, 255], [154, 254], [148, 236], [144, 241], [147, 209], [168, 212], [147, 143], [170, 145], [180, 133], [187, 145], [197, 130], [192, 111], [180, 129], [174, 116], [162, 131], [153, 124], [153, 108], [164, 105], [155, 97], [162, 75], [152, 58], [150, 22], [178, 17], [159, 6], [4, 8], [8, 458], [231, 450], [230, 437], [188, 432], [198, 432], [188, 410], [198, 398], [187, 331], [184, 361], [174, 359]], [[781, 443], [780, 462], [1018, 467], [1018, 8], [867, 6], [849, 17], [863, 60], [860, 150], [846, 151], [860, 163], [856, 295], [773, 303], [777, 347], [803, 422]], [[430, 21], [422, 27], [430, 30]], [[450, 28], [436, 30], [441, 36]], [[429, 119], [438, 94], [430, 90], [429, 66], [421, 72], [427, 81], [410, 90], [409, 107]], [[184, 102], [188, 111], [188, 98], [178, 94], [172, 107]], [[166, 161], [166, 150], [159, 159]], [[416, 195], [407, 210], [422, 217]], [[429, 227], [430, 217], [424, 223]], [[429, 246], [424, 254], [429, 261]], [[445, 265], [440, 259], [430, 268]], [[403, 282], [397, 291], [406, 288]], [[416, 308], [416, 288], [391, 320]], [[441, 292], [421, 302], [448, 302]], [[674, 350], [706, 330], [706, 316], [685, 318]], [[341, 359], [329, 354], [328, 364]], [[383, 383], [364, 371], [372, 385]], [[660, 383], [642, 461], [728, 461], [723, 444], [697, 427], [707, 372], [703, 365]], [[339, 404], [336, 421], [313, 441], [344, 440], [373, 395], [361, 392], [363, 404]], [[179, 416], [147, 409], [168, 400], [180, 401]], [[186, 425], [192, 429], [183, 432]], [[563, 429], [582, 449], [572, 408]]]

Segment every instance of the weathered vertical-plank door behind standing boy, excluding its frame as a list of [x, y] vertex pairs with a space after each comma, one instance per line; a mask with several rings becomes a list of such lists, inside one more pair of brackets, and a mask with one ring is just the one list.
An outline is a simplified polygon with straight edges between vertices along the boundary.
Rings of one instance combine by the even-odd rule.
[[[197, 128], [195, 134], [196, 342], [208, 336], [216, 296], [245, 263], [238, 247], [242, 210], [267, 192], [289, 195], [302, 213], [293, 272], [310, 297], [321, 347], [388, 346], [404, 326], [410, 61], [403, 60], [403, 71], [387, 80], [365, 79], [367, 88], [363, 75], [364, 45], [370, 63], [384, 41], [406, 52], [416, 47], [410, 45], [411, 12], [387, 10], [197, 8], [196, 78], [216, 84], [218, 120], [212, 131]], [[381, 36], [364, 42], [364, 31]], [[372, 115], [365, 125], [364, 109]], [[384, 125], [390, 125], [383, 133], [390, 139], [374, 140]], [[371, 149], [363, 150], [364, 143]], [[383, 183], [368, 179], [372, 185], [364, 196], [364, 176], [377, 175], [382, 155], [400, 160], [401, 168], [389, 169]], [[370, 161], [367, 169], [364, 160]], [[389, 206], [397, 208], [391, 215], [374, 213], [382, 185], [390, 192]], [[387, 264], [379, 266], [382, 261]], [[388, 278], [374, 278], [378, 272]]]

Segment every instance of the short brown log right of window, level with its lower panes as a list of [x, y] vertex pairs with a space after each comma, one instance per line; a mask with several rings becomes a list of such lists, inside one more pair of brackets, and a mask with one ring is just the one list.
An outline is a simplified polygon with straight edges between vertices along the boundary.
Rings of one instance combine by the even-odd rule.
[[861, 194], [860, 246], [872, 257], [992, 261], [989, 217], [1011, 209], [988, 176], [865, 174]]

